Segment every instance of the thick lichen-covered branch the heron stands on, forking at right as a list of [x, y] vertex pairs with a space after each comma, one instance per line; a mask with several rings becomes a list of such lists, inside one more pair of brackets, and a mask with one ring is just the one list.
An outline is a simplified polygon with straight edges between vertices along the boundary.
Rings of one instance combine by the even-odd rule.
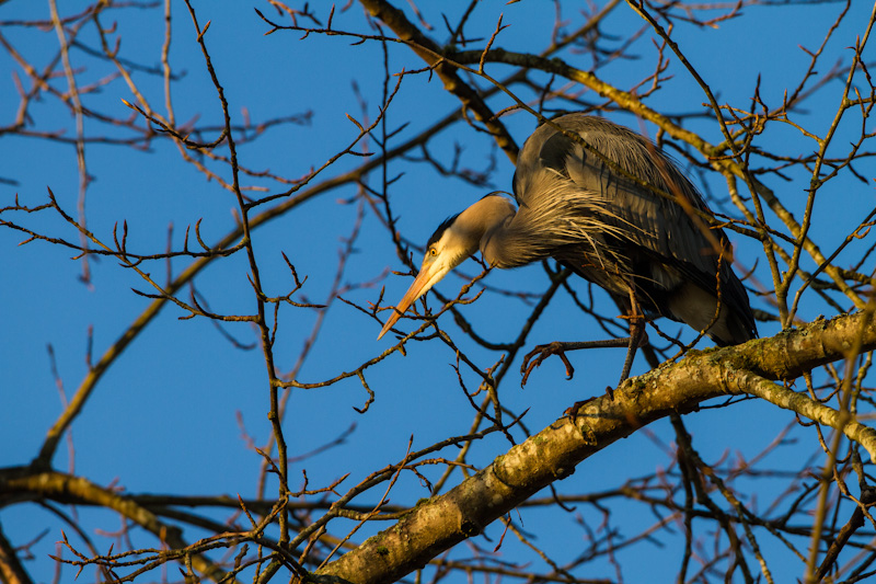
[[[850, 351], [854, 347], [857, 352], [876, 348], [876, 325], [867, 312], [818, 320], [744, 345], [691, 352], [677, 364], [627, 380], [613, 399], [602, 396], [586, 402], [574, 420], [557, 420], [448, 493], [417, 505], [393, 527], [320, 570], [318, 581], [394, 582], [480, 534], [548, 484], [572, 474], [590, 455], [655, 420], [694, 411], [712, 398], [756, 394], [842, 428], [873, 457], [873, 428], [768, 381], [789, 381], [825, 363], [853, 357]], [[733, 410], [726, 415], [733, 415]]]

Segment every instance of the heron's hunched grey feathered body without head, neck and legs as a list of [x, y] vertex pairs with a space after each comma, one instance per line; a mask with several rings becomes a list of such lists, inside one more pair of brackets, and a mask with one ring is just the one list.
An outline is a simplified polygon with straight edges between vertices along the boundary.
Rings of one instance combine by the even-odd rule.
[[718, 344], [756, 337], [729, 241], [708, 227], [707, 206], [673, 161], [602, 118], [568, 114], [552, 123], [586, 145], [551, 124], [527, 140], [507, 244], [554, 256], [627, 308], [632, 288], [645, 310], [696, 330], [711, 324]]

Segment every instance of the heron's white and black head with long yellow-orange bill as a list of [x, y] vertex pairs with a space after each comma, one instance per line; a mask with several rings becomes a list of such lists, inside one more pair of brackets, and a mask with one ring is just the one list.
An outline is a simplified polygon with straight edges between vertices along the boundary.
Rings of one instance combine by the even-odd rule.
[[419, 274], [387, 319], [378, 340], [387, 334], [411, 305], [438, 284], [448, 272], [477, 251], [483, 228], [479, 231], [477, 221], [473, 220], [474, 214], [469, 213], [472, 207], [469, 207], [459, 215], [449, 217], [435, 230], [426, 244], [426, 255], [423, 257]]

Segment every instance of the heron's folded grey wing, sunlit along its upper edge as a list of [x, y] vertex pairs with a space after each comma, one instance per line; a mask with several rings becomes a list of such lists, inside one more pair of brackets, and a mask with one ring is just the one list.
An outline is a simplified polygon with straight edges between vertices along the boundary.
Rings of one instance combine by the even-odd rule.
[[[612, 260], [601, 257], [606, 249], [598, 247], [615, 242], [630, 250], [614, 257], [621, 268], [643, 277], [641, 266], [623, 264], [647, 259], [652, 264], [647, 277], [665, 290], [693, 282], [716, 296], [719, 279], [722, 302], [741, 319], [739, 327], [751, 337], [754, 323], [748, 296], [731, 270], [727, 238], [719, 229], [706, 229], [705, 221], [685, 210], [708, 211], [672, 160], [642, 136], [601, 118], [570, 114], [553, 123], [581, 136], [589, 148], [550, 124], [539, 127], [523, 145], [514, 183], [518, 215], [530, 217], [514, 222], [541, 228], [541, 233], [530, 236], [548, 242], [542, 245], [544, 255], [555, 255], [546, 250], [550, 245], [563, 247], [564, 229], [587, 232], [598, 261]], [[564, 211], [548, 208], [556, 206], [564, 206]], [[557, 225], [568, 224], [569, 217], [578, 225]], [[569, 236], [565, 243], [574, 242]], [[606, 277], [592, 276], [586, 277], [619, 293], [616, 283], [612, 290]]]

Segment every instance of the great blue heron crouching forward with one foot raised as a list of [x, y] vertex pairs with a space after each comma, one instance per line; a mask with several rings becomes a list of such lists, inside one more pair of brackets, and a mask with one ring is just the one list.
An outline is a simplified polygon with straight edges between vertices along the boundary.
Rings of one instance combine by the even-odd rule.
[[479, 248], [493, 267], [553, 257], [608, 291], [630, 320], [627, 339], [537, 347], [523, 362], [526, 375], [537, 353], [533, 365], [572, 348], [629, 346], [623, 381], [645, 314], [685, 322], [722, 346], [757, 335], [727, 237], [708, 225], [696, 188], [646, 138], [580, 113], [557, 117], [523, 145], [514, 192], [517, 207], [494, 193], [438, 226], [419, 275], [378, 339]]

